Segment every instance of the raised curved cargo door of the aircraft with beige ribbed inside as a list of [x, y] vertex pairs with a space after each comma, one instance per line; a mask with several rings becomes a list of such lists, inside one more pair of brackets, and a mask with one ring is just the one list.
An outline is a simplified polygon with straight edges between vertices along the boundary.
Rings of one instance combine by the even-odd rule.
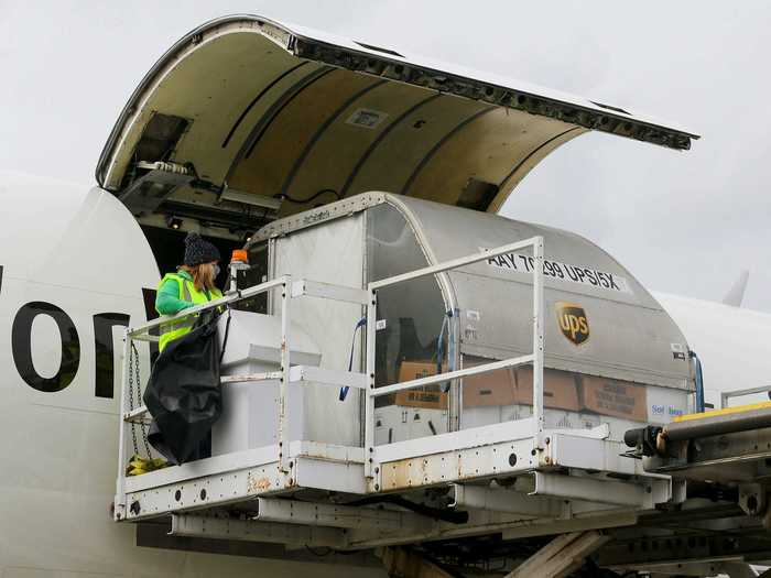
[[535, 164], [588, 130], [680, 150], [698, 138], [617, 107], [236, 15], [194, 30], [153, 66], [96, 176], [144, 225], [189, 218], [246, 237], [366, 190], [497, 211]]

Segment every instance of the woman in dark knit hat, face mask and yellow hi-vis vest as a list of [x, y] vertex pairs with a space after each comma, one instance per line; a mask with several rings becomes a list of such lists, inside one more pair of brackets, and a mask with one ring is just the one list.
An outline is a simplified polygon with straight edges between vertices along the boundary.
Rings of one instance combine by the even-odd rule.
[[[219, 275], [219, 250], [197, 232], [185, 238], [184, 264], [176, 273], [166, 273], [158, 285], [155, 310], [161, 315], [175, 315], [183, 309], [200, 305], [222, 296], [215, 286]], [[163, 351], [169, 341], [191, 330], [194, 317], [161, 328], [159, 348]]]

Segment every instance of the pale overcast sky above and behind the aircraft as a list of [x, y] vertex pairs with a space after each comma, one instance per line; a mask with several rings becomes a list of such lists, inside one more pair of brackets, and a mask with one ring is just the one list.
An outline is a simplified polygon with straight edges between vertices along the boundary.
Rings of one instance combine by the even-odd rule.
[[699, 133], [680, 153], [587, 134], [503, 214], [576, 231], [648, 287], [771, 310], [771, 2], [0, 0], [0, 168], [94, 184], [121, 108], [206, 20], [249, 12], [487, 69]]

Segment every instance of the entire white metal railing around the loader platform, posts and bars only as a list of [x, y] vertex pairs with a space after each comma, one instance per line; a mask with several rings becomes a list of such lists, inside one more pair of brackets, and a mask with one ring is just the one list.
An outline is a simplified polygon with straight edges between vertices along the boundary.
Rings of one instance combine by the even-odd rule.
[[[411, 381], [395, 383], [392, 385], [387, 385], [382, 388], [376, 388], [376, 370], [374, 370], [374, 347], [376, 347], [376, 330], [377, 330], [377, 301], [378, 291], [398, 283], [404, 283], [415, 279], [437, 275], [454, 269], [458, 269], [465, 265], [470, 265], [480, 261], [491, 259], [501, 254], [510, 253], [513, 251], [532, 248], [533, 258], [535, 260], [534, 268], [532, 271], [533, 275], [533, 352], [526, 356], [520, 356], [515, 358], [493, 361], [490, 363], [485, 363], [481, 366], [475, 366], [473, 368], [466, 368], [455, 371], [449, 371], [441, 373], [437, 375], [431, 375], [426, 378], [414, 379]], [[280, 342], [280, 363], [281, 367], [279, 371], [264, 372], [259, 374], [250, 375], [225, 375], [221, 378], [221, 383], [236, 383], [236, 382], [256, 382], [265, 380], [278, 380], [279, 381], [279, 401], [278, 401], [278, 430], [276, 430], [276, 446], [278, 446], [278, 467], [281, 472], [289, 476], [290, 468], [287, 468], [287, 455], [289, 455], [289, 439], [286, 439], [286, 416], [289, 408], [286, 407], [286, 389], [287, 384], [291, 382], [314, 382], [326, 384], [334, 388], [340, 386], [351, 386], [361, 389], [365, 391], [365, 455], [371, 454], [374, 447], [374, 434], [373, 434], [373, 422], [374, 422], [374, 400], [382, 395], [388, 395], [398, 391], [411, 390], [414, 388], [420, 388], [424, 385], [436, 384], [441, 382], [452, 381], [459, 378], [479, 375], [484, 373], [489, 373], [491, 371], [500, 370], [503, 368], [514, 368], [518, 366], [532, 364], [533, 366], [533, 418], [534, 418], [534, 439], [537, 447], [542, 446], [543, 430], [544, 430], [544, 402], [543, 402], [543, 349], [544, 349], [544, 284], [543, 284], [543, 258], [544, 258], [544, 244], [542, 237], [533, 237], [532, 239], [526, 239], [524, 241], [506, 244], [491, 249], [489, 251], [484, 251], [480, 253], [475, 253], [471, 255], [463, 257], [459, 259], [454, 259], [446, 261], [444, 263], [438, 263], [436, 265], [426, 266], [404, 273], [401, 275], [395, 275], [382, 281], [377, 281], [369, 283], [367, 290], [358, 290], [352, 287], [344, 287], [340, 285], [334, 285], [328, 283], [319, 283], [310, 280], [298, 280], [293, 282], [291, 275], [283, 275], [281, 277], [261, 283], [253, 287], [246, 288], [232, 294], [228, 294], [217, 301], [213, 301], [206, 304], [197, 305], [185, 309], [184, 312], [174, 315], [172, 317], [165, 317], [161, 319], [155, 319], [142, 324], [141, 326], [127, 328], [124, 336], [123, 346], [123, 367], [122, 367], [122, 385], [121, 385], [121, 401], [120, 401], [120, 433], [119, 433], [119, 451], [118, 451], [118, 478], [117, 478], [117, 498], [116, 498], [116, 519], [120, 520], [121, 512], [124, 512], [126, 504], [123, 503], [126, 497], [126, 465], [127, 460], [127, 430], [132, 422], [135, 423], [137, 419], [143, 419], [144, 414], [146, 414], [146, 408], [140, 407], [133, 411], [128, 411], [127, 400], [128, 395], [131, 393], [128, 391], [129, 386], [129, 367], [131, 359], [132, 341], [158, 341], [158, 336], [152, 335], [153, 331], [165, 327], [167, 325], [174, 325], [181, 320], [188, 319], [196, 316], [207, 309], [229, 307], [238, 302], [251, 298], [256, 295], [260, 295], [273, 290], [281, 290], [281, 304], [280, 304], [280, 316], [281, 316], [281, 342]], [[323, 370], [314, 367], [304, 366], [291, 366], [291, 348], [289, 343], [289, 328], [290, 328], [290, 315], [291, 307], [290, 302], [292, 298], [310, 296], [310, 297], [321, 297], [328, 298], [338, 302], [355, 303], [367, 307], [367, 340], [366, 340], [366, 373], [358, 373], [354, 371], [333, 371]], [[275, 307], [273, 307], [275, 309]], [[372, 461], [365, 459], [365, 475], [368, 478], [372, 477]]]

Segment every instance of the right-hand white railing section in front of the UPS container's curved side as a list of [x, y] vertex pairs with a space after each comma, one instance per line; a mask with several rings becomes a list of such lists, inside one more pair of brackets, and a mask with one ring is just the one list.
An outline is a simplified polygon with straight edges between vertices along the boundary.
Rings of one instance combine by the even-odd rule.
[[[430, 375], [426, 378], [414, 379], [392, 385], [376, 388], [376, 336], [377, 336], [377, 307], [378, 307], [378, 291], [391, 285], [413, 281], [428, 275], [437, 275], [458, 269], [461, 266], [486, 261], [493, 257], [511, 253], [518, 250], [532, 248], [533, 250], [533, 352], [528, 356], [493, 361], [473, 368], [459, 369]], [[370, 456], [365, 459], [365, 475], [367, 478], [373, 478], [376, 462], [371, 458], [374, 452], [374, 400], [382, 395], [412, 390], [424, 385], [433, 385], [458, 378], [470, 375], [479, 375], [489, 373], [503, 368], [514, 368], [518, 366], [533, 366], [533, 418], [535, 421], [534, 436], [536, 445], [541, 446], [544, 429], [544, 403], [543, 403], [543, 330], [544, 330], [544, 285], [543, 285], [543, 258], [544, 246], [543, 237], [533, 237], [515, 243], [504, 244], [489, 251], [453, 259], [444, 263], [419, 269], [401, 275], [374, 281], [367, 285], [369, 302], [367, 304], [367, 375], [369, 379], [368, 386], [365, 390], [365, 456]]]

